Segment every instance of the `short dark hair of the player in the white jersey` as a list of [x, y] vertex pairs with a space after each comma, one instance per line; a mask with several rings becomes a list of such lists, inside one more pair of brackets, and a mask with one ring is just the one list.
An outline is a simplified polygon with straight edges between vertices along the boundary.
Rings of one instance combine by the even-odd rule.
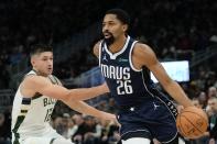
[[35, 44], [31, 46], [30, 56], [33, 56], [35, 54], [40, 54], [43, 52], [53, 52], [53, 47], [51, 45], [46, 44]]

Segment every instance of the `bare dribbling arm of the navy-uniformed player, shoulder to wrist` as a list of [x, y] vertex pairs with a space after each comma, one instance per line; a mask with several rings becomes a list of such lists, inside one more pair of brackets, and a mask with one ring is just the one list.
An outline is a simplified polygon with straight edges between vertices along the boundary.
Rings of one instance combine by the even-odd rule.
[[172, 80], [166, 74], [165, 69], [158, 60], [154, 52], [145, 44], [135, 44], [133, 51], [134, 62], [138, 62], [140, 66], [148, 67], [163, 88], [173, 97], [180, 104], [184, 107], [191, 107], [192, 101], [187, 98], [180, 85]]

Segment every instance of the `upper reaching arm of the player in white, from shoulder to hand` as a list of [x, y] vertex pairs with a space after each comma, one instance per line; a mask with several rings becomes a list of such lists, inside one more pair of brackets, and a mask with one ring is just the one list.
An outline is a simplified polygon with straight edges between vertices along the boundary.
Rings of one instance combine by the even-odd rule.
[[34, 96], [35, 92], [44, 96], [63, 100], [86, 100], [108, 92], [106, 84], [93, 88], [66, 89], [62, 86], [53, 85], [42, 76], [28, 76], [21, 84], [21, 92], [25, 97]]

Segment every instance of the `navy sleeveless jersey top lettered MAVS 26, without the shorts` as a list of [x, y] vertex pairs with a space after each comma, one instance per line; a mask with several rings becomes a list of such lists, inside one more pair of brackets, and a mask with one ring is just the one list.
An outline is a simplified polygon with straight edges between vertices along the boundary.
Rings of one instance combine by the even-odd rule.
[[135, 43], [128, 36], [122, 49], [115, 54], [109, 52], [104, 41], [100, 44], [99, 65], [118, 106], [134, 106], [154, 97], [149, 90], [154, 87], [149, 70], [138, 70], [132, 65], [131, 55]]

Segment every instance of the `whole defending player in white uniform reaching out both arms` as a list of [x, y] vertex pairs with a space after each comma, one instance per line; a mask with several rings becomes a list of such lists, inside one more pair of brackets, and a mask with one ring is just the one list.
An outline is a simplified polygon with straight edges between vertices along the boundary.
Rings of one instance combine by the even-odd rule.
[[107, 120], [110, 113], [99, 111], [79, 100], [108, 92], [106, 85], [83, 89], [66, 89], [52, 75], [53, 51], [47, 45], [35, 45], [31, 49], [32, 70], [20, 84], [12, 109], [12, 144], [73, 144], [56, 133], [50, 125], [56, 100], [72, 109]]

